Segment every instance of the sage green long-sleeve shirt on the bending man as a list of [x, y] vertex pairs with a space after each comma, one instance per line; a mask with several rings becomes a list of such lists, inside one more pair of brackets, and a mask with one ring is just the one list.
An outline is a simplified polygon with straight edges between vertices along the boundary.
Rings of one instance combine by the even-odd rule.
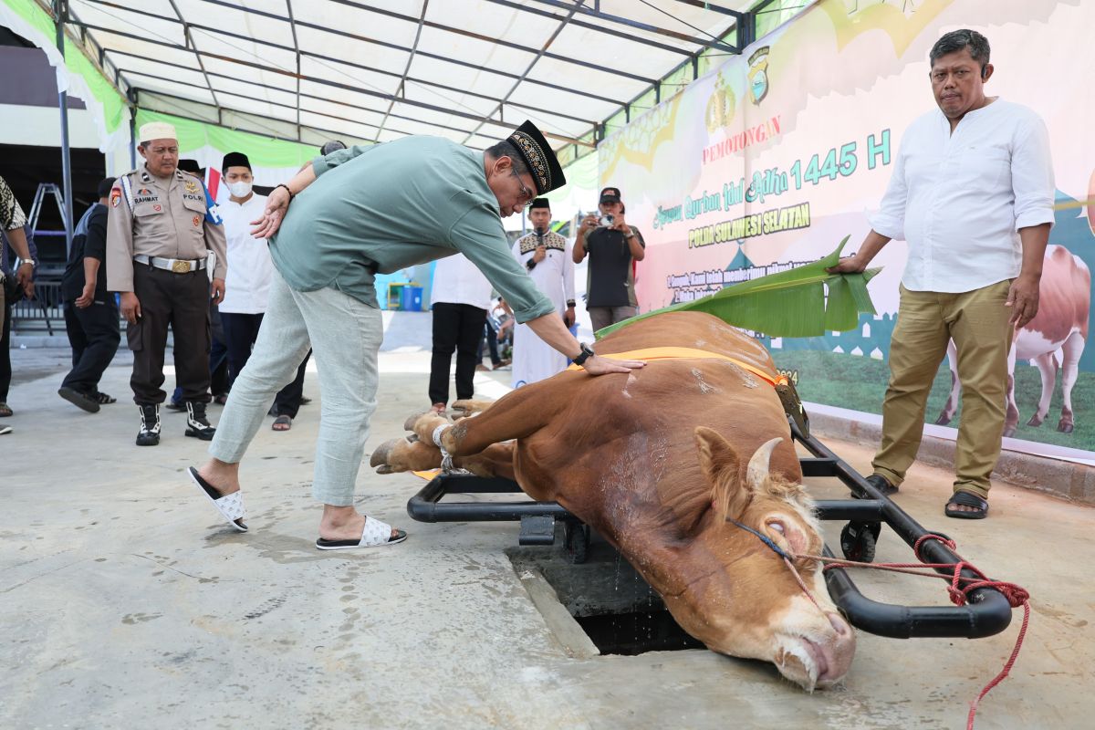
[[483, 155], [438, 137], [338, 150], [289, 206], [270, 256], [298, 291], [333, 287], [377, 305], [373, 274], [460, 252], [518, 322], [555, 311], [509, 253]]

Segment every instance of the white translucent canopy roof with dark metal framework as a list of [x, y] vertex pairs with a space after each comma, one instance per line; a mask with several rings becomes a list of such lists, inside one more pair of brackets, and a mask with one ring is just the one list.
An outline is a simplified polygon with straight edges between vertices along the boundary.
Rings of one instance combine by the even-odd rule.
[[430, 134], [476, 149], [528, 118], [558, 149], [591, 147], [698, 54], [735, 53], [721, 39], [757, 4], [72, 0], [67, 23], [141, 108], [307, 143]]

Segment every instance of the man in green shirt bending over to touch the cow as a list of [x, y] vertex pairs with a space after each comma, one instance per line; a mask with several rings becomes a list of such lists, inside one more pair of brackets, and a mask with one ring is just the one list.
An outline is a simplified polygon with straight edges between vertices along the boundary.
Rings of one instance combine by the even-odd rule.
[[[505, 297], [518, 322], [593, 375], [641, 368], [579, 344], [509, 252], [502, 216], [565, 184], [546, 140], [526, 121], [484, 153], [406, 137], [316, 158], [277, 186], [252, 232], [270, 242], [275, 276], [254, 351], [232, 387], [212, 455], [191, 478], [245, 532], [239, 463], [275, 394], [309, 347], [320, 363], [322, 419], [312, 494], [323, 503], [320, 549], [390, 545], [406, 533], [354, 508], [354, 485], [377, 407], [383, 339], [374, 276], [460, 252]], [[291, 205], [290, 205], [291, 202]]]

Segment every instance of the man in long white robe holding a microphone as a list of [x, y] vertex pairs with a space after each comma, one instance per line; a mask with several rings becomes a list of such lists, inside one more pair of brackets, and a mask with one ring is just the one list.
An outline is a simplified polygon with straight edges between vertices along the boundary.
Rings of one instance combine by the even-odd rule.
[[[537, 289], [555, 304], [567, 327], [574, 324], [574, 259], [570, 244], [551, 230], [551, 204], [537, 198], [529, 207], [532, 233], [518, 239], [514, 256]], [[566, 369], [566, 356], [545, 345], [528, 325], [514, 329], [514, 387], [551, 378]]]

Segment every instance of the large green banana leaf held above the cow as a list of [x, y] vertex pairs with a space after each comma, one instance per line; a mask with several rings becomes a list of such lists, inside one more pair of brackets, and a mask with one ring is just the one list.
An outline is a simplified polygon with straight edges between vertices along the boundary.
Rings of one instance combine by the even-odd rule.
[[[828, 256], [805, 266], [736, 283], [691, 302], [633, 316], [597, 331], [597, 338], [666, 312], [707, 312], [727, 324], [769, 337], [815, 337], [854, 329], [861, 313], [875, 313], [867, 282], [880, 268], [862, 274], [829, 274], [850, 236]], [[827, 296], [828, 291], [828, 296]]]

